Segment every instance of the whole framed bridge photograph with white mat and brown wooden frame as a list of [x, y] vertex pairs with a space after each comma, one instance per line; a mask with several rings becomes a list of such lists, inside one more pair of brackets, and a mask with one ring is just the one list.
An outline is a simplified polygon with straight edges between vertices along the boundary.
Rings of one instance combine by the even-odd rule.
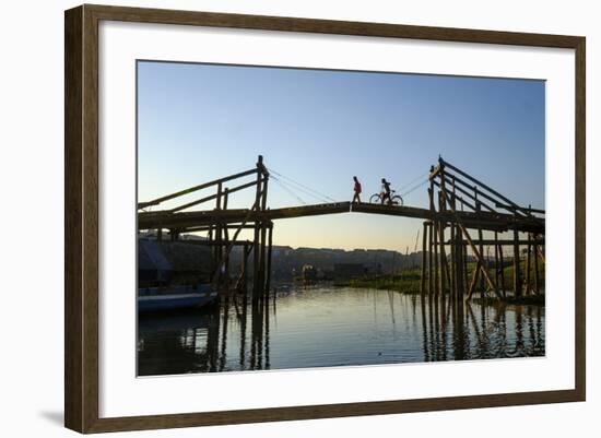
[[585, 400], [584, 37], [64, 20], [67, 427]]

